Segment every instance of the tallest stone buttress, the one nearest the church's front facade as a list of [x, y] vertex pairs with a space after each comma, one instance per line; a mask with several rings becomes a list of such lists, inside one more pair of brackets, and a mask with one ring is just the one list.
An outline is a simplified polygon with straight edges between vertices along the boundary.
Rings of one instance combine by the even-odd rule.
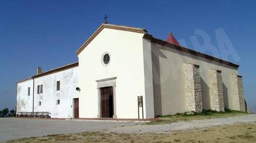
[[202, 112], [202, 90], [199, 66], [190, 63], [184, 64], [185, 97], [187, 110]]

